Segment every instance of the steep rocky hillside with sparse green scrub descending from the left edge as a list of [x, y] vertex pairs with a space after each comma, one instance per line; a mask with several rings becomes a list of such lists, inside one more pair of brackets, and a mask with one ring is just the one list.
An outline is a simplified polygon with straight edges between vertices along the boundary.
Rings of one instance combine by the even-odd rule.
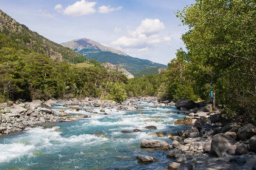
[[10, 36], [16, 49], [41, 53], [58, 61], [80, 63], [86, 60], [73, 50], [44, 38], [37, 32], [32, 32], [26, 25], [20, 24], [0, 10], [0, 33]]

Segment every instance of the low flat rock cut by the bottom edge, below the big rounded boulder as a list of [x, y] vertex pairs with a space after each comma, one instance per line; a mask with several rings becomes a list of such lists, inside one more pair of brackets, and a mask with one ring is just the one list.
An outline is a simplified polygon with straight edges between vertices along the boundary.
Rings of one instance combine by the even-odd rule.
[[238, 170], [238, 168], [227, 161], [216, 160], [213, 163], [201, 166], [198, 170]]

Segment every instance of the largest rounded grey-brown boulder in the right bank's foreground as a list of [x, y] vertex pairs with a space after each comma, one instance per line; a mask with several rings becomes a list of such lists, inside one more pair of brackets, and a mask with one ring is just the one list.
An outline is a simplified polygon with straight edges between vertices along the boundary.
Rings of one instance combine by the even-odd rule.
[[227, 148], [229, 146], [232, 146], [235, 144], [235, 140], [228, 135], [224, 134], [218, 134], [215, 135], [212, 138], [212, 143], [211, 143], [211, 152], [212, 155], [218, 156], [218, 157], [224, 157], [226, 154]]

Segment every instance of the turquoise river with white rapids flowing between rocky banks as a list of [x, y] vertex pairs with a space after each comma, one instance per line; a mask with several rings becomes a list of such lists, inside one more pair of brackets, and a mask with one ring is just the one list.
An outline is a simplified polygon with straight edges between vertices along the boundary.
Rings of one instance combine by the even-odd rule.
[[[62, 106], [63, 103], [58, 103], [53, 109], [59, 112]], [[168, 114], [176, 110], [174, 106], [152, 108], [153, 103], [142, 102], [138, 106], [145, 109], [137, 112], [105, 109], [109, 115], [90, 114], [83, 109], [66, 110], [70, 114], [91, 115], [91, 118], [4, 135], [0, 137], [0, 169], [166, 169], [172, 161], [166, 158], [167, 151], [140, 148], [140, 141], [154, 138], [171, 143], [168, 137], [153, 137], [151, 133], [167, 134], [185, 128], [173, 125], [184, 115]], [[99, 112], [101, 108], [93, 109]], [[149, 125], [157, 129], [144, 128]], [[120, 132], [135, 128], [142, 132]], [[139, 154], [151, 155], [158, 161], [138, 163]]]

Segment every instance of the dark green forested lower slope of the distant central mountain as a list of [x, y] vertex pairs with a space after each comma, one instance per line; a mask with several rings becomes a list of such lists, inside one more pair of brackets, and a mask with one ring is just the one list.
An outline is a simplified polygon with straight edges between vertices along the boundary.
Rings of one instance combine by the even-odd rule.
[[132, 56], [119, 55], [112, 52], [96, 52], [87, 53], [85, 55], [88, 59], [95, 59], [99, 63], [111, 63], [115, 65], [121, 65], [130, 73], [140, 72], [141, 70], [152, 67], [165, 67], [163, 64], [152, 63], [149, 60], [143, 60], [140, 58], [133, 58]]

